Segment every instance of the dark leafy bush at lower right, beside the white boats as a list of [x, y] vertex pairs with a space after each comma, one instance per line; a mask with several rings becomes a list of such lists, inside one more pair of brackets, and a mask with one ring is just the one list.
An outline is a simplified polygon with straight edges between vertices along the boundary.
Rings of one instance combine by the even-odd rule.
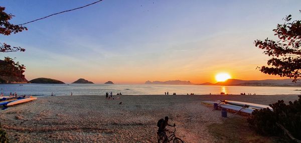
[[253, 111], [247, 119], [250, 128], [262, 135], [282, 135], [283, 130], [277, 125], [281, 124], [295, 138], [301, 139], [301, 95], [294, 102], [286, 105], [283, 100], [270, 104], [273, 108]]

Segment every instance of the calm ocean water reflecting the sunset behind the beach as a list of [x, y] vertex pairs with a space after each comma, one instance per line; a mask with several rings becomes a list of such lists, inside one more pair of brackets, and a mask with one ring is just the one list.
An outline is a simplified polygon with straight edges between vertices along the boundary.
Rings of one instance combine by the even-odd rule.
[[257, 95], [301, 94], [301, 87], [251, 87], [251, 86], [201, 86], [201, 85], [120, 85], [120, 84], [0, 84], [5, 95], [17, 92], [18, 95], [49, 96], [54, 95], [113, 95], [121, 92], [124, 95], [164, 94], [169, 91], [177, 95], [194, 93], [202, 94], [240, 94], [256, 93]]

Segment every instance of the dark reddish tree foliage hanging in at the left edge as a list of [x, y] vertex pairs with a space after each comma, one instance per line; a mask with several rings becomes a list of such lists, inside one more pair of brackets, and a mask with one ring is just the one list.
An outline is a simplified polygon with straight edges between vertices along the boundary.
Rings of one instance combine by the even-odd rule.
[[[4, 12], [5, 8], [0, 6], [0, 34], [2, 35], [10, 35], [12, 33], [16, 34], [18, 32], [22, 32], [23, 30], [27, 30], [26, 27], [13, 25], [9, 22], [14, 16], [12, 14], [7, 14]], [[21, 47], [12, 47], [6, 43], [0, 43], [0, 52], [24, 52], [25, 49]], [[0, 67], [0, 76], [16, 76], [22, 75], [25, 70], [24, 65], [20, 65], [19, 62], [15, 62], [14, 59], [10, 57], [5, 57], [5, 60], [2, 61]]]

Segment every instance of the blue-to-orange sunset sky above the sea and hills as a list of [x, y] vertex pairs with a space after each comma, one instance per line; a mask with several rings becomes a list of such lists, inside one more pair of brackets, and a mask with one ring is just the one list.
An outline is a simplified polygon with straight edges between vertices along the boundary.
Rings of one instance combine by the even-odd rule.
[[[1, 0], [22, 24], [96, 1]], [[301, 1], [116, 1], [25, 25], [0, 42], [26, 52], [17, 57], [28, 80], [46, 77], [71, 83], [140, 84], [146, 80], [213, 82], [226, 72], [235, 79], [282, 79], [256, 69], [268, 57], [254, 40], [275, 39], [272, 29], [286, 15], [299, 20]]]

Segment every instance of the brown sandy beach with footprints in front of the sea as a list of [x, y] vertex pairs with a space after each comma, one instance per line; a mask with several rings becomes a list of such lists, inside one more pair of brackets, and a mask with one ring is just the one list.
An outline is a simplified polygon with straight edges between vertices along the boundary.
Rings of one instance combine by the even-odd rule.
[[270, 104], [297, 96], [48, 96], [1, 110], [0, 121], [11, 142], [157, 142], [157, 121], [169, 116], [185, 142], [220, 142], [208, 126], [222, 122], [221, 112], [201, 101], [224, 99]]

